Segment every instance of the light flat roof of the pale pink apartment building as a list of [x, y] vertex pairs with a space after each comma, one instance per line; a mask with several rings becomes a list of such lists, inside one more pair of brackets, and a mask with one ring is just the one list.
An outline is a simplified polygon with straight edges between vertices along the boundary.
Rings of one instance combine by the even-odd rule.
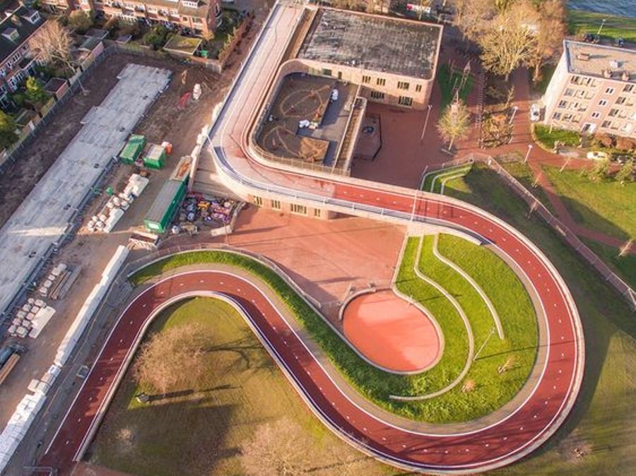
[[[636, 50], [565, 40], [567, 71], [573, 74], [636, 82]], [[609, 76], [608, 76], [609, 75]]]

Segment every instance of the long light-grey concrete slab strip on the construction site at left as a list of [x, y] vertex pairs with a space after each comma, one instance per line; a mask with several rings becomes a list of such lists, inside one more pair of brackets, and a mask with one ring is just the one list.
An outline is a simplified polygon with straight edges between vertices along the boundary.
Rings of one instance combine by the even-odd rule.
[[23, 286], [49, 246], [59, 242], [90, 187], [126, 138], [170, 71], [128, 64], [119, 83], [82, 119], [82, 129], [0, 229], [0, 313]]

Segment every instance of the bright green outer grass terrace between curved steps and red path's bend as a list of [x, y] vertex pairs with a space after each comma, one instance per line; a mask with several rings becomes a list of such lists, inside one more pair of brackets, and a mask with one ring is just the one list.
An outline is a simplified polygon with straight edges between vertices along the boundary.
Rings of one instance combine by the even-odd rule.
[[[416, 240], [416, 238], [413, 238]], [[439, 249], [442, 256], [454, 261], [481, 285], [490, 297], [502, 319], [505, 338], [489, 335], [495, 329], [495, 321], [476, 289], [457, 271], [446, 266], [433, 254], [433, 237], [423, 237], [419, 268], [428, 278], [444, 287], [464, 310], [471, 323], [477, 351], [488, 339], [478, 359], [471, 364], [464, 381], [472, 380], [476, 388], [461, 391], [461, 384], [440, 397], [435, 403], [450, 411], [478, 417], [486, 415], [507, 403], [525, 383], [534, 365], [537, 345], [536, 314], [524, 286], [498, 256], [489, 249], [447, 234], [440, 235]], [[429, 307], [428, 302], [423, 302]], [[437, 318], [440, 314], [433, 313]], [[450, 329], [444, 333], [457, 333]], [[499, 374], [497, 369], [508, 358], [514, 359], [512, 369]]]

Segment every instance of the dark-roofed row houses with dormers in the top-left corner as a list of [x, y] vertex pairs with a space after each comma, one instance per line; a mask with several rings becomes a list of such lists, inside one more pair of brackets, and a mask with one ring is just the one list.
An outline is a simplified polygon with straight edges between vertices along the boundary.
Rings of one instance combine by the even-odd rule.
[[35, 73], [36, 61], [30, 40], [45, 24], [37, 10], [19, 6], [2, 12], [0, 21], [0, 104], [6, 104], [7, 93], [13, 93]]

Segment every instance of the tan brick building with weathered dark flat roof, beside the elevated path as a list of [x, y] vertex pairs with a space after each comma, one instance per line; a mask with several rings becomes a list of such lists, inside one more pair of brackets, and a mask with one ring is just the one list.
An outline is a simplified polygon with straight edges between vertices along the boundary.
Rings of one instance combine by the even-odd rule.
[[441, 39], [441, 25], [319, 8], [295, 61], [312, 75], [361, 85], [372, 102], [424, 109]]

